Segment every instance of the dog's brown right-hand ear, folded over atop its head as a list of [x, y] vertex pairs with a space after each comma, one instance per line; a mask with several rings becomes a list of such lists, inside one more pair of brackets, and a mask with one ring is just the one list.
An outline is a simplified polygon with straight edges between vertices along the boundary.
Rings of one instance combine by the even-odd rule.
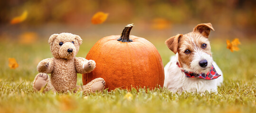
[[198, 24], [195, 28], [194, 28], [194, 32], [199, 32], [201, 33], [203, 36], [205, 36], [206, 38], [208, 38], [211, 30], [214, 31], [212, 25], [210, 23], [205, 23], [205, 24]]

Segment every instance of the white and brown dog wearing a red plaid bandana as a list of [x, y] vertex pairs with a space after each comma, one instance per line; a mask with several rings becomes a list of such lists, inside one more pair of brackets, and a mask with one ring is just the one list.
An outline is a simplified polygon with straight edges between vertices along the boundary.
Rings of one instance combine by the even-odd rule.
[[[198, 24], [193, 32], [178, 34], [165, 41], [176, 56], [164, 67], [164, 87], [172, 92], [216, 92], [223, 74], [212, 59], [208, 36], [210, 23]], [[221, 75], [221, 76], [220, 76]]]

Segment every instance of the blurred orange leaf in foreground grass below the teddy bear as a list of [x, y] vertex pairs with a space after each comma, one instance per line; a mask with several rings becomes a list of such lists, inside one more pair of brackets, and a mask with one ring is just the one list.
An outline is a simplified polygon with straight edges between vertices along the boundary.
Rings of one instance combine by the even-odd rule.
[[60, 109], [62, 111], [71, 111], [77, 108], [77, 102], [74, 98], [70, 96], [61, 96], [60, 97]]

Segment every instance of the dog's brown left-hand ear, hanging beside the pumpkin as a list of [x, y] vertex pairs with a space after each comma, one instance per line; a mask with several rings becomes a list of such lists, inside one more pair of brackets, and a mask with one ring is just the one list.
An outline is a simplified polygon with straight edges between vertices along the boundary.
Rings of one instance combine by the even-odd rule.
[[168, 48], [170, 48], [171, 51], [175, 54], [178, 50], [178, 42], [182, 36], [182, 34], [177, 34], [176, 36], [173, 36], [165, 41], [165, 44], [168, 46]]

